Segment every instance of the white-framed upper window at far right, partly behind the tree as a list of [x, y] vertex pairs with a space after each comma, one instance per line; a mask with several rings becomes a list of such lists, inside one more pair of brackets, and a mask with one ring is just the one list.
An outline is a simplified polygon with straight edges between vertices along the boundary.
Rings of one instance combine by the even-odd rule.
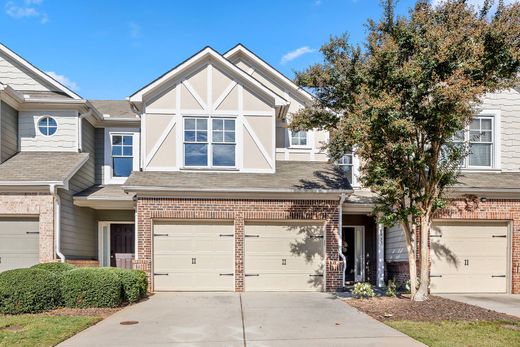
[[493, 116], [476, 116], [470, 125], [454, 136], [454, 142], [467, 146], [468, 156], [462, 161], [463, 168], [479, 169], [497, 166], [496, 124]]

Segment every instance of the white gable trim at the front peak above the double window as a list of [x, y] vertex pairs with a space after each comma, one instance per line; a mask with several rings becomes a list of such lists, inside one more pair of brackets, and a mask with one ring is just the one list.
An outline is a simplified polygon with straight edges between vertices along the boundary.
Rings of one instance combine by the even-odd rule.
[[246, 81], [250, 86], [256, 88], [258, 91], [262, 92], [264, 95], [267, 95], [274, 99], [275, 105], [287, 105], [288, 102], [282, 96], [278, 95], [271, 89], [267, 88], [265, 85], [260, 83], [258, 80], [250, 76], [248, 73], [238, 68], [236, 65], [232, 64], [229, 60], [225, 59], [220, 53], [215, 51], [213, 48], [207, 46], [195, 53], [193, 56], [175, 66], [170, 71], [166, 72], [162, 76], [158, 77], [148, 85], [144, 86], [134, 94], [129, 97], [130, 102], [142, 102], [143, 96], [150, 93], [152, 90], [156, 89], [163, 83], [166, 83], [175, 77], [179, 76], [183, 72], [187, 71], [191, 67], [195, 66], [197, 63], [203, 61], [204, 59], [212, 58], [215, 61], [219, 62], [224, 68], [226, 68], [229, 72], [239, 76], [243, 81]]

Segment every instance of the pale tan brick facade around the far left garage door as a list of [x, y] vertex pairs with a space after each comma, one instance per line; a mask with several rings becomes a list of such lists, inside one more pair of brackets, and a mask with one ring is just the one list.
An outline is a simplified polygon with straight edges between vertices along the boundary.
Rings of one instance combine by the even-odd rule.
[[55, 259], [54, 197], [50, 194], [0, 194], [0, 217], [38, 217], [40, 262]]

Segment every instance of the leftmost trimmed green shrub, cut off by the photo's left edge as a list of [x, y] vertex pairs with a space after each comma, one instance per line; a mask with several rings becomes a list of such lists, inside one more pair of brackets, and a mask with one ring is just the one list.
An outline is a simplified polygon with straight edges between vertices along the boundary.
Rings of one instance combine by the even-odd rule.
[[41, 269], [0, 273], [0, 313], [37, 313], [61, 304], [59, 277]]

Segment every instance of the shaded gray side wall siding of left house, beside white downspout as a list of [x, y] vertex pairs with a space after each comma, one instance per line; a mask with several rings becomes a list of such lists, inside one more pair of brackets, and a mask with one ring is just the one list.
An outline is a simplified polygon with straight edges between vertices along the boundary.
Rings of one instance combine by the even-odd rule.
[[60, 192], [61, 247], [68, 258], [97, 259], [96, 211], [73, 203], [74, 194], [91, 187], [95, 182], [95, 128], [84, 119], [82, 122], [82, 148], [90, 156], [71, 178], [69, 190]]

